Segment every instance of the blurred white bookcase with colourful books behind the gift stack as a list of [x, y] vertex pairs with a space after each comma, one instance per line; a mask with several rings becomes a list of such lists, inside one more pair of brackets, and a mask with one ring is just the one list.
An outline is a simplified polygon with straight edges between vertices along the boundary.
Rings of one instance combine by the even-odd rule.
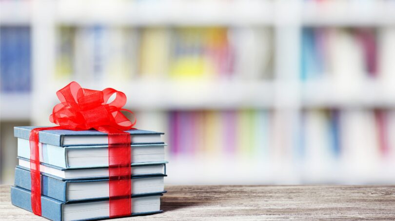
[[70, 81], [165, 132], [167, 184], [394, 184], [395, 0], [0, 0], [1, 183]]

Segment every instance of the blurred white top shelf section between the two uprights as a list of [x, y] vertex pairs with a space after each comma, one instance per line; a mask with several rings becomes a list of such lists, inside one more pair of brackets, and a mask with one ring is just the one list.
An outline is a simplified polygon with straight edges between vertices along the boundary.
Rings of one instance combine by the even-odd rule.
[[[89, 13], [87, 13], [89, 11]], [[56, 21], [65, 24], [239, 25], [272, 24], [273, 4], [252, 1], [59, 0]]]

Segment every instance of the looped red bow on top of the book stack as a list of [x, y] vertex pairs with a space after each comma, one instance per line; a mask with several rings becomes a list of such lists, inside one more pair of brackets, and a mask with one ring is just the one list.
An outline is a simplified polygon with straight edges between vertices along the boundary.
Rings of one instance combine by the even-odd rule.
[[[113, 94], [116, 94], [114, 101], [106, 104]], [[113, 88], [91, 90], [72, 82], [60, 89], [57, 95], [61, 103], [54, 107], [49, 119], [58, 125], [68, 125], [75, 130], [108, 125], [124, 131], [136, 124], [120, 112], [125, 110], [122, 107], [126, 104], [126, 95]]]

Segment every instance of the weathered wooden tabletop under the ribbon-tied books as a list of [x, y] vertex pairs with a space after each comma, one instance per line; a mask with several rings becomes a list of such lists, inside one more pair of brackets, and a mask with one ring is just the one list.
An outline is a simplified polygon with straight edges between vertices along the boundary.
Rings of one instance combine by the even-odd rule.
[[[395, 220], [395, 186], [166, 186], [165, 211], [119, 220]], [[0, 220], [43, 218], [10, 203], [1, 186]], [[118, 221], [118, 220], [117, 220]]]

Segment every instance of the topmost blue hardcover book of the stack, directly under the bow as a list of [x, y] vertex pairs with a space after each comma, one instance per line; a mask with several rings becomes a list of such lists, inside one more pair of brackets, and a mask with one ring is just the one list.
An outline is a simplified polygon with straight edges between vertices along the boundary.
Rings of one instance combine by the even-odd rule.
[[[14, 127], [14, 136], [29, 139], [30, 131], [34, 126]], [[164, 133], [144, 130], [125, 131], [131, 135], [132, 144], [162, 144], [161, 135]], [[96, 130], [71, 131], [71, 130], [47, 130], [40, 131], [40, 143], [54, 146], [99, 146], [108, 145], [108, 135]]]

